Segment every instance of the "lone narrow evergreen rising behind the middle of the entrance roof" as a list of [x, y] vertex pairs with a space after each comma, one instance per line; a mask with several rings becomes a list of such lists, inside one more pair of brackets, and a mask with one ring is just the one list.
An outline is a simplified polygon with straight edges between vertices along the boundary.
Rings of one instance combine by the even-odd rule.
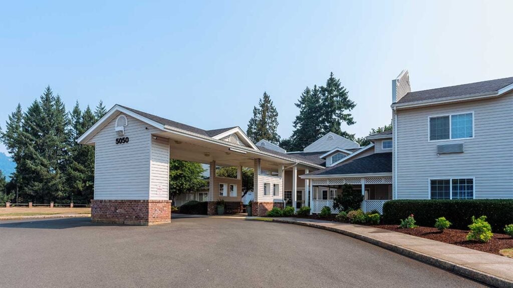
[[254, 142], [265, 139], [278, 145], [278, 111], [272, 104], [271, 97], [264, 92], [258, 107], [253, 108], [253, 117], [249, 120], [247, 135]]

